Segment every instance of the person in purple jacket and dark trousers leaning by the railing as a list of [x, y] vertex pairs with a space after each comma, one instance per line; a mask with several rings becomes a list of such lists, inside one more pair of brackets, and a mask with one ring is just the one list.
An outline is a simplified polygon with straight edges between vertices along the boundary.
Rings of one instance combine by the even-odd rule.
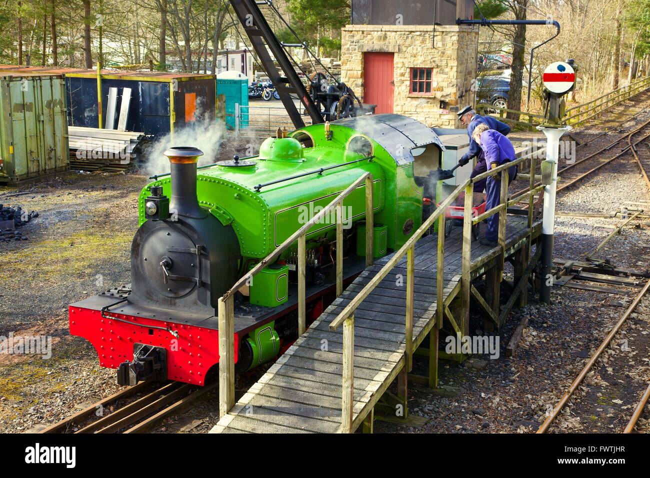
[[[515, 160], [515, 148], [512, 142], [495, 129], [490, 129], [487, 124], [479, 124], [472, 132], [472, 139], [476, 141], [483, 151], [486, 162], [486, 170], [497, 168], [498, 166]], [[493, 176], [487, 176], [486, 179], [486, 211], [493, 207], [499, 206], [501, 202], [501, 178], [500, 173]], [[517, 176], [517, 165], [508, 168], [508, 184]], [[499, 214], [491, 215], [486, 220], [487, 230], [485, 237], [479, 239], [484, 246], [497, 245], [499, 239]]]

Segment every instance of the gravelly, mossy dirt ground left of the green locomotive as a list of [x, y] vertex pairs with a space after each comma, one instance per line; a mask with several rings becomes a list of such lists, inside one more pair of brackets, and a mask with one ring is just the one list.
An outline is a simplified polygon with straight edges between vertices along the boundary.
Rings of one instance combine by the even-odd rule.
[[21, 228], [28, 241], [0, 243], [0, 336], [52, 338], [51, 358], [0, 354], [0, 431], [38, 428], [118, 389], [90, 343], [70, 336], [68, 304], [130, 282], [146, 183], [135, 174], [70, 172], [0, 190], [0, 203], [39, 213]]

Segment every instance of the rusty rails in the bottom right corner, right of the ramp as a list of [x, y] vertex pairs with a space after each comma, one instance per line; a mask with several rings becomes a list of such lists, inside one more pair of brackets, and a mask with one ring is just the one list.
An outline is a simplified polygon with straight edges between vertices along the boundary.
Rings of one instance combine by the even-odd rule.
[[[551, 429], [551, 427], [556, 423], [556, 418], [560, 415], [560, 412], [563, 410], [565, 405], [569, 403], [571, 400], [571, 397], [573, 396], [573, 393], [578, 389], [578, 386], [583, 384], [583, 380], [585, 377], [588, 376], [590, 371], [593, 368], [593, 365], [596, 364], [598, 358], [603, 354], [604, 351], [608, 349], [608, 347], [615, 347], [616, 345], [611, 345], [612, 339], [614, 339], [617, 334], [621, 331], [621, 328], [623, 325], [626, 323], [626, 321], [629, 319], [629, 317], [632, 315], [634, 310], [638, 307], [640, 302], [647, 296], [648, 291], [650, 290], [650, 280], [648, 280], [645, 285], [643, 285], [642, 289], [638, 292], [636, 297], [632, 300], [632, 303], [630, 306], [625, 310], [623, 315], [619, 318], [617, 321], [616, 325], [610, 330], [609, 334], [604, 338], [602, 343], [599, 345], [599, 347], [596, 349], [595, 352], [591, 355], [590, 359], [584, 365], [580, 373], [578, 373], [577, 377], [573, 382], [571, 383], [571, 386], [567, 389], [567, 391], [562, 395], [560, 398], [560, 401], [550, 410], [550, 412], [547, 414], [547, 418], [545, 421], [541, 424], [541, 426], [538, 429], [538, 433], [545, 433]], [[626, 341], [621, 341], [621, 343], [625, 343], [625, 349], [627, 351], [632, 351], [633, 349], [636, 349], [636, 352], [638, 352], [639, 359], [644, 358], [647, 356], [647, 354], [643, 354], [643, 351], [641, 350], [642, 347], [649, 347], [649, 345], [643, 344], [642, 339], [639, 339], [639, 337], [644, 337], [643, 334], [636, 334], [636, 339], [633, 338], [632, 334], [626, 334]], [[630, 339], [632, 341], [637, 341], [637, 343], [630, 343]], [[631, 346], [631, 347], [630, 347]], [[621, 350], [623, 350], [623, 345], [621, 345]], [[628, 364], [626, 365], [627, 367], [633, 368], [634, 363], [633, 360], [631, 359], [631, 354], [630, 358], [627, 360]], [[623, 371], [621, 369], [616, 370], [616, 377], [630, 377], [629, 370]], [[647, 381], [649, 377], [645, 377], [645, 380]], [[606, 384], [609, 385], [609, 384]], [[641, 388], [645, 383], [639, 384], [639, 383], [634, 383], [634, 384], [623, 384], [623, 387], [625, 387], [625, 390], [629, 390], [630, 388]], [[594, 384], [586, 384], [586, 388], [588, 389], [585, 395], [589, 395], [591, 392], [592, 395], [599, 395], [597, 392], [598, 388], [601, 386], [601, 383], [595, 382]], [[603, 398], [603, 395], [599, 395], [600, 398]], [[638, 421], [638, 418], [640, 417], [643, 408], [645, 407], [645, 404], [647, 403], [648, 398], [650, 397], [650, 386], [648, 386], [645, 389], [645, 392], [640, 396], [640, 400], [638, 401], [638, 404], [634, 408], [634, 411], [632, 414], [630, 414], [629, 421], [627, 421], [627, 425], [625, 426], [625, 429], [620, 429], [618, 430], [619, 432], [625, 432], [629, 433], [634, 429], [634, 426], [636, 425], [636, 422]], [[615, 401], [614, 403], [621, 403], [621, 401]], [[603, 410], [606, 406], [608, 406], [608, 403], [606, 401], [601, 402], [599, 401], [598, 403], [594, 404], [593, 401], [584, 401], [584, 400], [578, 400], [575, 403], [572, 404], [573, 406], [571, 407], [571, 412], [575, 410], [575, 408], [580, 408], [582, 406], [583, 408], [586, 408], [588, 412], [593, 413], [593, 410]], [[594, 415], [591, 415], [592, 419]], [[613, 429], [608, 429], [607, 431], [612, 432], [616, 431]]]

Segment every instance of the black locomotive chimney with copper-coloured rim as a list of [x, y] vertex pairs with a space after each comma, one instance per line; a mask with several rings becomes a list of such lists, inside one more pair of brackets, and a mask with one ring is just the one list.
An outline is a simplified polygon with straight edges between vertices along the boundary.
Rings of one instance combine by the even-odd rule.
[[172, 200], [169, 211], [180, 216], [202, 219], [207, 211], [196, 197], [196, 163], [203, 152], [192, 146], [174, 146], [163, 153], [169, 158], [172, 173]]

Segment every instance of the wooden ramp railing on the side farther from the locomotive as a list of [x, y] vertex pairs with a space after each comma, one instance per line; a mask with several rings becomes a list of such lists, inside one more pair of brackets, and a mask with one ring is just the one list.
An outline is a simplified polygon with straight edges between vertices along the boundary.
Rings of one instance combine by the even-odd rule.
[[[429, 228], [434, 224], [436, 220], [438, 223], [438, 237], [437, 237], [437, 271], [436, 271], [436, 301], [437, 301], [437, 310], [436, 310], [436, 322], [437, 326], [440, 328], [443, 323], [443, 318], [445, 315], [450, 319], [454, 330], [457, 334], [460, 334], [460, 328], [458, 328], [457, 321], [453, 319], [448, 310], [448, 307], [443, 306], [443, 289], [445, 285], [445, 215], [443, 214], [445, 209], [452, 204], [458, 197], [460, 193], [465, 191], [464, 209], [463, 209], [463, 244], [462, 244], [462, 276], [461, 276], [461, 300], [463, 304], [463, 314], [465, 317], [461, 317], [463, 320], [469, 318], [469, 301], [471, 295], [476, 295], [478, 292], [471, 285], [471, 243], [472, 243], [472, 231], [471, 228], [473, 224], [478, 223], [480, 220], [486, 219], [491, 215], [499, 213], [502, 211], [504, 214], [499, 216], [499, 235], [498, 243], [500, 248], [500, 268], [503, 270], [503, 262], [505, 259], [505, 242], [506, 242], [506, 211], [507, 207], [515, 204], [516, 202], [522, 202], [528, 198], [528, 239], [527, 239], [527, 256], [526, 261], [530, 258], [530, 248], [532, 246], [532, 226], [534, 221], [534, 196], [537, 193], [543, 191], [544, 186], [535, 185], [535, 167], [536, 161], [535, 158], [530, 158], [530, 185], [528, 191], [508, 200], [508, 168], [513, 165], [518, 165], [528, 159], [528, 157], [521, 157], [510, 163], [506, 163], [497, 168], [479, 174], [475, 178], [466, 179], [459, 185], [454, 191], [437, 207], [437, 209], [430, 215], [424, 222], [422, 226], [409, 237], [408, 241], [393, 254], [393, 257], [382, 267], [382, 269], [376, 273], [376, 275], [370, 280], [370, 282], [361, 289], [361, 291], [352, 299], [347, 306], [333, 319], [330, 323], [330, 330], [337, 330], [339, 326], [343, 325], [343, 388], [342, 388], [342, 407], [341, 407], [341, 431], [342, 432], [352, 432], [353, 419], [354, 419], [354, 312], [357, 307], [365, 300], [374, 288], [391, 272], [393, 267], [395, 267], [399, 261], [406, 255], [407, 256], [407, 278], [406, 278], [406, 317], [405, 317], [405, 332], [406, 332], [406, 351], [404, 368], [406, 371], [410, 371], [413, 364], [413, 297], [414, 297], [414, 287], [415, 284], [415, 245], [422, 235], [429, 230]], [[500, 190], [500, 204], [495, 206], [485, 213], [473, 217], [472, 206], [473, 206], [473, 193], [474, 193], [474, 183], [485, 179], [488, 176], [494, 176], [500, 174], [501, 176], [501, 190]], [[537, 254], [537, 251], [536, 251]], [[512, 308], [514, 301], [517, 299], [519, 293], [523, 291], [523, 286], [521, 284], [526, 284], [528, 280], [528, 275], [532, 271], [530, 264], [526, 268], [526, 271], [523, 273], [523, 276], [519, 279], [519, 284], [515, 286], [515, 291], [513, 291], [508, 303], [500, 311], [497, 310], [497, 313], [494, 313], [492, 317], [493, 321], [497, 322], [497, 325], [502, 325], [505, 321], [505, 317]], [[502, 274], [502, 272], [501, 272]], [[482, 299], [482, 298], [481, 298]], [[479, 300], [480, 302], [480, 300]], [[437, 344], [435, 345], [437, 347]], [[430, 352], [432, 353], [432, 352]]]

